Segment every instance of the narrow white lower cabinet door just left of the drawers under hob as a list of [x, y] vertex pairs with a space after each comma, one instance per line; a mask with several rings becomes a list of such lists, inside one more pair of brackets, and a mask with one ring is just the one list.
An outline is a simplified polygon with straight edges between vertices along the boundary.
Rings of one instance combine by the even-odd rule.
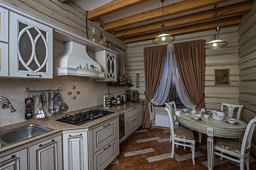
[[87, 132], [64, 133], [63, 139], [63, 169], [88, 169]]

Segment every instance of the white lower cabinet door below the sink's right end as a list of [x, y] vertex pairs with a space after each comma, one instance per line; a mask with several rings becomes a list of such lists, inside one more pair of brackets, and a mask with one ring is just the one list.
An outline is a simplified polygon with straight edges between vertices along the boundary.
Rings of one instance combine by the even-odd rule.
[[61, 135], [28, 147], [30, 170], [62, 170]]

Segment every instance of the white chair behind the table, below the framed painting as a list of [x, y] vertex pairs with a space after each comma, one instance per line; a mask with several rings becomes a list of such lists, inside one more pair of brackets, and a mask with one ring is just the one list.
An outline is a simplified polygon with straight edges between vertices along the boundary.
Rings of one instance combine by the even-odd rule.
[[[228, 104], [228, 103], [221, 103], [221, 107], [220, 110], [223, 110], [223, 106], [228, 107], [228, 117], [233, 117], [233, 112], [235, 108], [238, 108], [237, 110], [237, 115], [236, 115], [236, 120], [240, 119], [240, 113], [242, 108], [244, 107], [244, 105], [232, 105], [232, 104]], [[202, 132], [198, 132], [198, 140], [199, 143], [201, 144], [202, 141]], [[240, 141], [242, 141], [243, 139], [241, 138]], [[222, 158], [221, 158], [222, 159]]]

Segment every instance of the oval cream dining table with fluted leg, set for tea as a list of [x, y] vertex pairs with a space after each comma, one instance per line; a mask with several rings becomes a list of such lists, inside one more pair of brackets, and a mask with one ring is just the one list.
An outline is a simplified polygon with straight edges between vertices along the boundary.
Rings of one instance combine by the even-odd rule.
[[[191, 119], [192, 114], [181, 113], [180, 111], [175, 112], [176, 121], [180, 124], [196, 130], [201, 133], [207, 134], [207, 154], [208, 154], [208, 169], [212, 170], [214, 166], [214, 153], [213, 153], [213, 142], [214, 137], [227, 137], [227, 138], [240, 138], [244, 137], [244, 132], [247, 127], [245, 122], [237, 120], [240, 125], [231, 125], [225, 123], [226, 119], [231, 117], [225, 117], [222, 121], [216, 121], [212, 116], [208, 119], [204, 119], [205, 123], [196, 122]], [[232, 118], [234, 119], [234, 118]]]

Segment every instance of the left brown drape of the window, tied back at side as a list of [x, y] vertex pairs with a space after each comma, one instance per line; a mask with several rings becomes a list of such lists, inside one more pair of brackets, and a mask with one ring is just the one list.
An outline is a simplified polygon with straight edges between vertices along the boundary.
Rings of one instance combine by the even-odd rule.
[[167, 45], [144, 48], [146, 99], [143, 128], [150, 128], [148, 104], [149, 101], [154, 97], [160, 78], [162, 76], [166, 49]]

